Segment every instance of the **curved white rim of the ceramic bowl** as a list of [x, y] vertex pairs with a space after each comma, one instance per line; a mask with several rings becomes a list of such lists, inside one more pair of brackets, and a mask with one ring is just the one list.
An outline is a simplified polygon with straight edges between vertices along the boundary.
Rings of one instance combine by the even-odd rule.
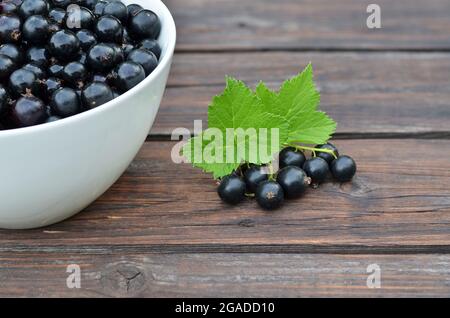
[[[62, 118], [60, 120], [50, 122], [50, 123], [43, 123], [35, 126], [29, 126], [29, 127], [22, 127], [22, 128], [14, 128], [14, 129], [6, 129], [6, 130], [0, 130], [0, 139], [11, 137], [11, 136], [20, 136], [25, 134], [33, 134], [40, 131], [50, 130], [52, 128], [57, 128], [59, 126], [65, 126], [71, 123], [75, 123], [78, 121], [82, 121], [85, 118], [95, 116], [97, 113], [101, 113], [106, 111], [109, 108], [114, 107], [117, 103], [122, 102], [123, 100], [131, 97], [135, 92], [138, 90], [144, 88], [149, 83], [153, 82], [156, 78], [159, 77], [159, 75], [165, 70], [167, 67], [170, 67], [172, 57], [175, 51], [175, 44], [177, 39], [177, 31], [175, 26], [175, 20], [172, 16], [172, 13], [167, 8], [167, 6], [162, 2], [161, 0], [153, 0], [151, 1], [153, 3], [156, 3], [158, 6], [161, 7], [161, 13], [159, 13], [162, 17], [164, 17], [164, 23], [167, 23], [168, 25], [168, 35], [167, 35], [167, 49], [165, 54], [162, 55], [162, 58], [160, 59], [158, 66], [155, 68], [155, 70], [148, 75], [142, 82], [140, 82], [138, 85], [133, 87], [132, 89], [128, 90], [127, 92], [123, 93], [122, 95], [114, 98], [113, 100], [98, 106], [94, 109], [90, 109], [87, 111], [84, 111], [82, 113]], [[145, 9], [145, 8], [144, 8]]]

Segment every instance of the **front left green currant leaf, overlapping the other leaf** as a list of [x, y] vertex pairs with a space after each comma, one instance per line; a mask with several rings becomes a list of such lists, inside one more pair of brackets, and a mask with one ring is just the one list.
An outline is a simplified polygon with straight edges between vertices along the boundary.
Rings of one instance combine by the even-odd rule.
[[183, 155], [215, 178], [223, 177], [243, 162], [271, 162], [287, 140], [287, 128], [286, 120], [266, 112], [243, 82], [228, 77], [224, 92], [208, 108], [208, 129], [189, 141]]

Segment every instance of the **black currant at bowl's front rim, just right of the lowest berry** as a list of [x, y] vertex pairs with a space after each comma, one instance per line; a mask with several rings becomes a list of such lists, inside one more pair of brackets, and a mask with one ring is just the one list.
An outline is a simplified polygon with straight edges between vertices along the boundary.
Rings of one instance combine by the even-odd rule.
[[56, 90], [50, 101], [52, 114], [69, 117], [81, 111], [78, 94], [71, 88], [63, 87]]

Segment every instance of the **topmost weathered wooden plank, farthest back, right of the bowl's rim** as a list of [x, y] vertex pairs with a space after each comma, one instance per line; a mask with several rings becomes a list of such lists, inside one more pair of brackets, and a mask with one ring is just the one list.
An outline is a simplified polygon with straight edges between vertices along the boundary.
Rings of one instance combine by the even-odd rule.
[[447, 0], [379, 0], [368, 29], [360, 0], [165, 0], [178, 50], [450, 49]]

